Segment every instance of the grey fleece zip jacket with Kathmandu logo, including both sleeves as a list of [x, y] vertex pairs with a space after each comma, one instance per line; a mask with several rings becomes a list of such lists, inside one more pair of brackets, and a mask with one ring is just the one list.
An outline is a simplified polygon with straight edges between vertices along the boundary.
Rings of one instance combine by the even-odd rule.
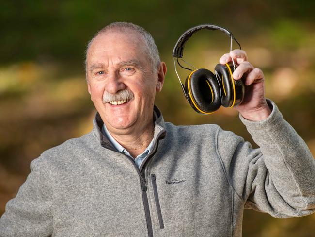
[[1, 237], [240, 237], [244, 208], [315, 209], [315, 160], [269, 102], [241, 118], [260, 149], [217, 125], [174, 126], [155, 108], [155, 149], [138, 169], [94, 129], [44, 152], [0, 219]]

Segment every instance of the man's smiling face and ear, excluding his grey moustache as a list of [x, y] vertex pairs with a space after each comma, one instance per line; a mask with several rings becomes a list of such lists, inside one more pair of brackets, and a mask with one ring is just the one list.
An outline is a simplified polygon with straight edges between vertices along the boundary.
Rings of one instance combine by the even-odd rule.
[[[96, 110], [112, 133], [126, 134], [152, 123], [156, 91], [164, 82], [152, 72], [142, 37], [130, 30], [98, 35], [87, 55], [88, 89]], [[103, 102], [105, 93], [130, 90], [128, 102]], [[117, 104], [116, 104], [117, 103]]]

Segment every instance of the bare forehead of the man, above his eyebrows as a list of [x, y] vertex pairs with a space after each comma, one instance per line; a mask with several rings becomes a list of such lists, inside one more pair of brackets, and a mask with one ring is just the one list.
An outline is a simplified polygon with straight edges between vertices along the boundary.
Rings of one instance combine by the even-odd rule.
[[146, 47], [142, 36], [126, 30], [109, 31], [97, 35], [87, 53], [87, 63], [111, 61], [126, 61], [141, 58], [146, 54]]

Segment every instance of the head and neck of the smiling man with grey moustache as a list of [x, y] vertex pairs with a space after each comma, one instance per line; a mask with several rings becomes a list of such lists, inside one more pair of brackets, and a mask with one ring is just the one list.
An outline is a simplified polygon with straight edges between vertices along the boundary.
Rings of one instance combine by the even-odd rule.
[[150, 35], [135, 34], [134, 28], [111, 25], [93, 38], [86, 77], [106, 134], [136, 157], [153, 138], [154, 99], [162, 89], [166, 65], [160, 62], [156, 46], [151, 44], [151, 50], [145, 42], [146, 38], [154, 42]]

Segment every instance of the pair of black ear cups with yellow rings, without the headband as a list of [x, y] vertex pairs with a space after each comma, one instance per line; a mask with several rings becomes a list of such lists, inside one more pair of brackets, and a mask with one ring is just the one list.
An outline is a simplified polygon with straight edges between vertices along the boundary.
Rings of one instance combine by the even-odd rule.
[[233, 65], [218, 64], [214, 75], [210, 70], [192, 71], [185, 81], [190, 106], [200, 114], [211, 114], [224, 107], [234, 107], [244, 98], [243, 79], [234, 80]]

